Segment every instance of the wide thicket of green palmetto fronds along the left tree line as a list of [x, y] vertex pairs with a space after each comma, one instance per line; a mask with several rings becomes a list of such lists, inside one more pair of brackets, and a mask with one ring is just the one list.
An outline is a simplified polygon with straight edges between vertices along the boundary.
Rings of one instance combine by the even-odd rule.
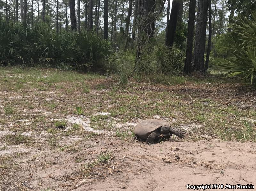
[[56, 34], [47, 24], [24, 27], [0, 20], [0, 62], [6, 64], [60, 65], [88, 69], [102, 68], [111, 45], [92, 31]]

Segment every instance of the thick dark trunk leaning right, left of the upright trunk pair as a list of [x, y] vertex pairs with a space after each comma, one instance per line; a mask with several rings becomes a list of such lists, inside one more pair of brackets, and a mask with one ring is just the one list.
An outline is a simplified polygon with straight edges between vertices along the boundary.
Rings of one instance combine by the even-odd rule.
[[175, 31], [177, 27], [177, 21], [178, 21], [178, 15], [179, 15], [179, 10], [180, 7], [182, 6], [182, 0], [173, 0], [172, 1], [172, 10], [170, 14], [170, 20], [167, 26], [167, 35], [165, 39], [165, 44], [166, 46], [172, 46], [174, 42], [174, 36], [175, 36]]

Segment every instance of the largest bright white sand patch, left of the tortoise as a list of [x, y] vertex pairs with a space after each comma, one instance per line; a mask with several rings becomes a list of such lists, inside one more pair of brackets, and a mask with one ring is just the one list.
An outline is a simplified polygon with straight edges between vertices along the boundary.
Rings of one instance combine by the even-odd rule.
[[75, 123], [81, 124], [85, 131], [94, 132], [94, 133], [105, 133], [105, 134], [110, 133], [109, 131], [106, 131], [106, 130], [95, 130], [95, 129], [91, 128], [89, 126], [90, 120], [84, 116], [76, 117], [73, 115], [68, 115], [66, 120], [71, 124], [75, 124]]

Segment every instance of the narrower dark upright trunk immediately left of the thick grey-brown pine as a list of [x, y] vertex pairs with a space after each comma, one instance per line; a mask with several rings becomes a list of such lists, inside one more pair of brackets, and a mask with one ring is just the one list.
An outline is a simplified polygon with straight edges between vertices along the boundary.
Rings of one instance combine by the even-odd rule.
[[188, 13], [188, 35], [187, 35], [187, 49], [186, 59], [184, 65], [184, 72], [191, 73], [191, 62], [192, 62], [192, 50], [193, 50], [193, 36], [194, 36], [194, 24], [195, 24], [195, 11], [196, 11], [196, 0], [190, 0], [189, 2], [189, 13]]

